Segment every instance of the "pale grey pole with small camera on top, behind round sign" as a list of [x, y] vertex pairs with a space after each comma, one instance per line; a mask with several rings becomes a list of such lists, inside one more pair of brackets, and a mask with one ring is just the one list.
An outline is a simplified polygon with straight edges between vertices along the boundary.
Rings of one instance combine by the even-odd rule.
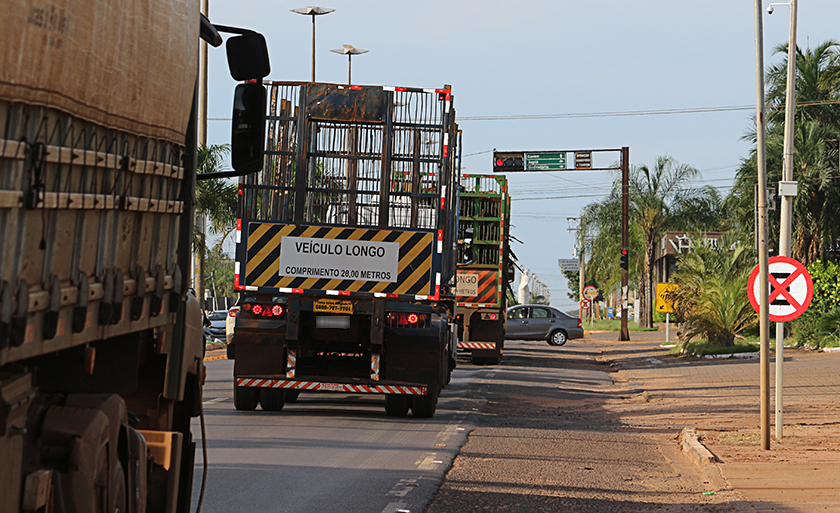
[[[774, 5], [790, 6], [790, 35], [788, 39], [787, 87], [785, 90], [785, 142], [782, 181], [779, 182], [781, 212], [779, 226], [779, 255], [790, 256], [790, 239], [793, 225], [793, 199], [796, 197], [796, 182], [793, 181], [793, 129], [796, 114], [796, 14], [798, 0], [786, 3], [771, 3], [767, 13], [773, 14]], [[784, 361], [785, 326], [776, 323], [776, 438], [782, 438], [782, 402], [784, 381], [782, 362]]]

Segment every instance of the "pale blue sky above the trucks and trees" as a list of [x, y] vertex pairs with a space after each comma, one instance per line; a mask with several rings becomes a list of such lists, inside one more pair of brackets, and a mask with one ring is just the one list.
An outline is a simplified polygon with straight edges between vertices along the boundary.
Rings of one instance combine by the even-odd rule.
[[[350, 44], [369, 50], [353, 58], [356, 84], [451, 85], [465, 174], [492, 174], [493, 149], [627, 146], [631, 165], [667, 155], [701, 172], [694, 185], [725, 195], [749, 155], [742, 137], [755, 115], [753, 0], [324, 1], [318, 5], [335, 12], [316, 18], [316, 80], [346, 83], [347, 58], [329, 50]], [[775, 48], [787, 43], [790, 26], [789, 7], [776, 5], [768, 15], [768, 4], [765, 66], [784, 58]], [[266, 36], [269, 80], [308, 81], [311, 18], [290, 12], [304, 6], [210, 0], [210, 19]], [[840, 0], [802, 0], [797, 44], [840, 40], [838, 20]], [[210, 52], [208, 144], [230, 142], [236, 83], [224, 54]], [[656, 113], [692, 109], [709, 112]], [[553, 117], [510, 119], [540, 115]], [[475, 119], [488, 116], [507, 119]], [[617, 154], [596, 158], [611, 162]], [[520, 265], [550, 288], [552, 305], [575, 308], [557, 268], [575, 246], [567, 218], [603, 199], [614, 176], [567, 171], [508, 179]]]

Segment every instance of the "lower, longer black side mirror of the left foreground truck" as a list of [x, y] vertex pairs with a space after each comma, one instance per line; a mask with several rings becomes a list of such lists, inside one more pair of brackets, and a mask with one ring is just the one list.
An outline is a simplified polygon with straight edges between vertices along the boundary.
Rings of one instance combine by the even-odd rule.
[[237, 174], [263, 168], [265, 155], [265, 87], [239, 84], [233, 93], [231, 165]]

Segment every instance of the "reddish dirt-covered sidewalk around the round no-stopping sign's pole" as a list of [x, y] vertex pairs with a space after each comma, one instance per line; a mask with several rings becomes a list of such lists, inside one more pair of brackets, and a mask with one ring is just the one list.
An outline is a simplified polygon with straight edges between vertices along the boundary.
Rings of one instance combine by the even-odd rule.
[[694, 360], [659, 348], [664, 330], [587, 335], [617, 369], [629, 395], [609, 408], [641, 431], [696, 428], [715, 456], [701, 469], [720, 478], [730, 504], [747, 511], [840, 512], [840, 354], [785, 351], [784, 433], [775, 439], [771, 362], [771, 449], [761, 449], [759, 360]]

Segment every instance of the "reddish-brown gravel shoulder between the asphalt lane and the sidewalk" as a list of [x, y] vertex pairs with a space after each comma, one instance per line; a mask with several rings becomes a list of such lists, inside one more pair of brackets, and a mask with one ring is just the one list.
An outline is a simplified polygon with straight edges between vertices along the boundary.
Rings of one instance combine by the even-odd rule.
[[600, 351], [589, 338], [508, 344], [487, 374], [489, 403], [427, 511], [735, 511], [670, 430], [625, 423], [612, 404], [641, 390], [616, 385]]

